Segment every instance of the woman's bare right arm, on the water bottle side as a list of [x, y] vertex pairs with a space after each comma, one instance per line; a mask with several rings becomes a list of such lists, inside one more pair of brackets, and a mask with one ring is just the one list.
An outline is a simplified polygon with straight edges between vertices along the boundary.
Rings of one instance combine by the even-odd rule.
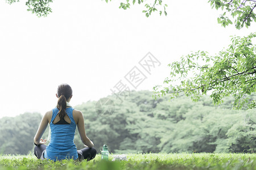
[[93, 142], [90, 141], [90, 139], [86, 136], [85, 127], [84, 127], [84, 116], [82, 115], [81, 111], [77, 111], [77, 117], [78, 117], [77, 129], [79, 130], [82, 143], [84, 143], [85, 146], [93, 147], [94, 146]]

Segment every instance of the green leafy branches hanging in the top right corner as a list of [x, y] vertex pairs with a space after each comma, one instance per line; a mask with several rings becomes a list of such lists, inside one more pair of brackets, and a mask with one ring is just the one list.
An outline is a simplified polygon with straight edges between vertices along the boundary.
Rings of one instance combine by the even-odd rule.
[[[228, 14], [234, 18], [234, 23], [236, 24], [237, 29], [241, 29], [245, 24], [245, 27], [248, 28], [250, 23], [256, 22], [256, 16], [253, 10], [256, 7], [255, 0], [209, 0], [210, 6], [212, 8], [221, 8], [222, 11], [225, 11], [218, 17], [218, 23], [222, 26], [233, 24], [229, 19]], [[228, 12], [228, 14], [227, 14]]]

